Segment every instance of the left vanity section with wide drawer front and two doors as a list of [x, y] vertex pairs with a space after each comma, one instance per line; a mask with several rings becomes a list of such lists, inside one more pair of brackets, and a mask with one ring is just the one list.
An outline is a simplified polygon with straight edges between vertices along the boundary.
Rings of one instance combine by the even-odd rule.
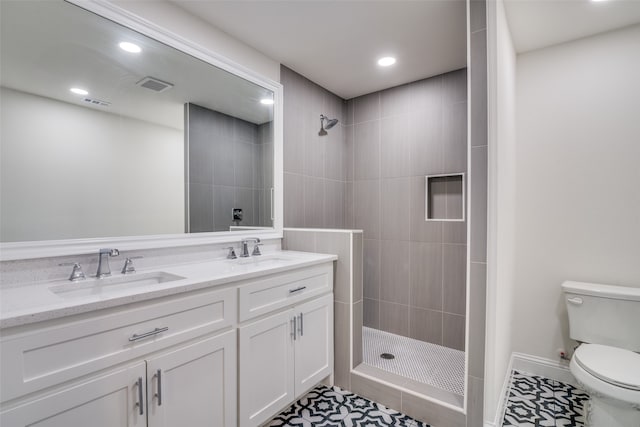
[[8, 331], [0, 425], [236, 427], [236, 292]]

